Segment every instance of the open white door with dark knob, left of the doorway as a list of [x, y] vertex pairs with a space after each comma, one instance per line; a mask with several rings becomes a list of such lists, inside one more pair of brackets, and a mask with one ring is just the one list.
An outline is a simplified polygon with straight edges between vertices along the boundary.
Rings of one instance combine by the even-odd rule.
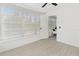
[[40, 15], [40, 39], [48, 38], [48, 20], [47, 16]]

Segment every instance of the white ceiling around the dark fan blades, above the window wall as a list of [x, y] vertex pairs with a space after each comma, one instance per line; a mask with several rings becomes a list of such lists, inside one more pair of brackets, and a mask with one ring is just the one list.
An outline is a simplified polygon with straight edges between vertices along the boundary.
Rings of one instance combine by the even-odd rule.
[[44, 8], [41, 8], [44, 3], [15, 3], [15, 4], [24, 8], [44, 13], [51, 12], [57, 8], [57, 6], [53, 6], [50, 3], [48, 3]]

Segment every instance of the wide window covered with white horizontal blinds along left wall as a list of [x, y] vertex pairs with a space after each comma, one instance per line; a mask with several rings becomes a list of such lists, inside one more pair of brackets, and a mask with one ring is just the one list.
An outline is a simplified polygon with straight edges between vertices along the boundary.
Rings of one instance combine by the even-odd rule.
[[2, 30], [4, 32], [3, 36], [5, 36], [5, 39], [39, 34], [39, 14], [6, 6], [2, 8], [2, 16], [3, 18], [6, 16], [4, 20], [1, 19], [3, 21], [1, 24], [3, 25]]

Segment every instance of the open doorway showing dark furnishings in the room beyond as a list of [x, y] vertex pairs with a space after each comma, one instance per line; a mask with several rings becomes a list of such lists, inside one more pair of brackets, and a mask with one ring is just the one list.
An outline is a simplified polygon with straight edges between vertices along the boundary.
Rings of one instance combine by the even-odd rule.
[[48, 35], [49, 38], [55, 38], [57, 37], [57, 16], [49, 16], [48, 17]]

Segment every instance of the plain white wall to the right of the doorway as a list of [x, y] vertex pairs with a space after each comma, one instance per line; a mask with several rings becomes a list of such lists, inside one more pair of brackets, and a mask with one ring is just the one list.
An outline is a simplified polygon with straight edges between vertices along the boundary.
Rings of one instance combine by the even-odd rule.
[[60, 4], [57, 16], [61, 26], [57, 40], [79, 47], [79, 4]]

